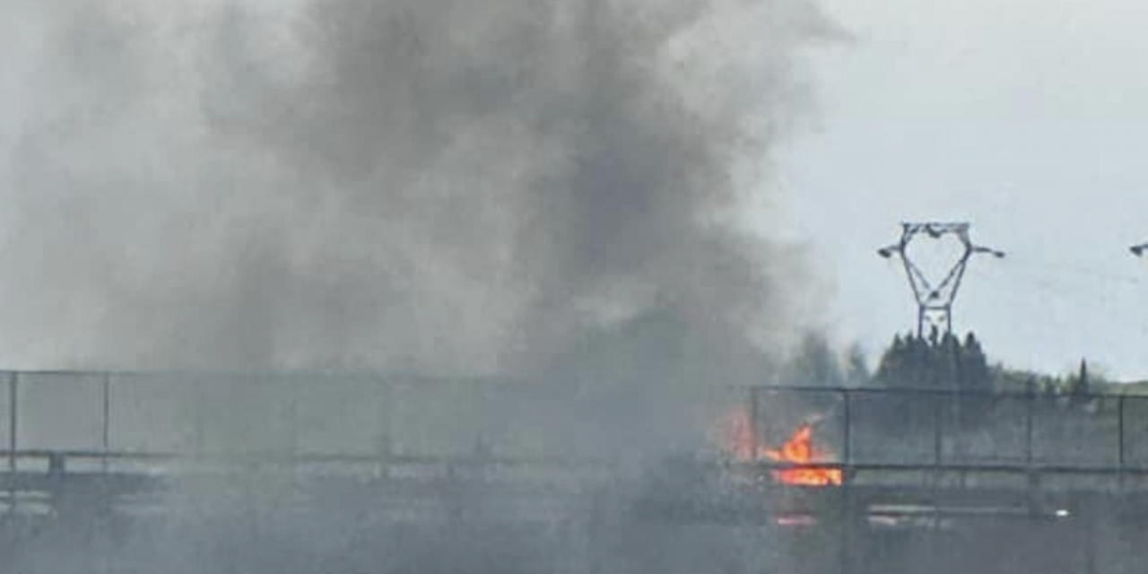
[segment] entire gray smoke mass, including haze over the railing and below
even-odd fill
[[[798,331],[804,270],[745,211],[827,33],[807,0],[2,0],[0,364],[760,375]],[[22,406],[51,393],[33,379]],[[732,402],[408,380],[377,404],[375,380],[248,397],[208,379],[114,385],[113,448],[644,468],[693,453]],[[83,426],[47,410],[23,413],[22,447]],[[762,572],[768,529],[635,518],[652,487],[614,465],[575,465],[565,490],[243,467],[173,479],[155,523],[59,518],[0,553],[45,573]],[[660,501],[707,484],[652,472],[673,479]]]

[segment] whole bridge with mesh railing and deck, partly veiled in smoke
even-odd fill
[[[643,523],[766,528],[794,548],[820,541],[824,564],[806,560],[808,572],[895,571],[891,560],[906,553],[949,560],[994,540],[1016,541],[1009,550],[1027,561],[978,564],[983,572],[1092,574],[1146,558],[1120,533],[1148,517],[1148,397],[572,393],[332,374],[8,372],[0,385],[0,525],[13,543],[36,528],[203,513],[203,492],[246,512],[352,504],[379,525],[560,523],[585,538],[571,525],[598,520],[594,491]],[[738,413],[752,452],[809,425],[819,456],[730,457],[723,425]],[[797,468],[844,480],[777,480]],[[885,556],[891,548],[901,556]]]

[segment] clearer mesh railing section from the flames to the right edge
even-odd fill
[[[759,440],[804,422],[852,467],[1148,472],[1148,397],[926,389],[754,389]]]

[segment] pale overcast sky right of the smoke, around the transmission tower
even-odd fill
[[[817,130],[782,162],[789,233],[836,289],[829,324],[870,350],[914,326],[875,249],[902,219],[967,219],[956,327],[1015,366],[1086,356],[1148,378],[1148,5],[828,0],[855,42],[820,52]]]

